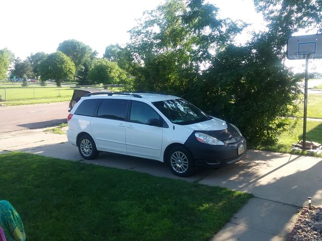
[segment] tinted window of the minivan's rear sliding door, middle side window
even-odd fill
[[[103,99],[97,111],[97,117],[125,121],[127,99]]]

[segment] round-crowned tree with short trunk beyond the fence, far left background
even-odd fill
[[[75,64],[64,53],[57,51],[40,62],[39,73],[42,81],[54,79],[57,86],[60,86],[62,80],[73,79]]]

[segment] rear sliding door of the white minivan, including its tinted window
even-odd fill
[[[92,118],[92,131],[100,151],[126,153],[125,116],[129,100],[103,98],[96,117]]]

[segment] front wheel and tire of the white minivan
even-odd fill
[[[167,156],[170,170],[179,177],[188,177],[195,172],[195,164],[190,152],[183,146],[172,148]]]

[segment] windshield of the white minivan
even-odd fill
[[[174,124],[190,125],[211,119],[192,103],[184,99],[169,99],[152,102]]]

